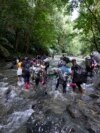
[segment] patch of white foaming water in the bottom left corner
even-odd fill
[[[25,123],[29,119],[29,117],[32,115],[33,110],[28,109],[25,111],[18,111],[14,112],[9,115],[7,123],[2,125],[2,133],[19,133],[19,129],[23,129]]]

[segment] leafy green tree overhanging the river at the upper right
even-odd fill
[[[100,15],[98,0],[74,0],[79,8],[79,17],[75,21],[75,29],[81,31],[80,40],[82,42],[83,51],[91,52],[93,50],[100,50],[99,35],[100,35]],[[75,3],[74,2],[74,3]],[[73,8],[77,7],[73,6]],[[84,43],[83,43],[84,42]],[[84,46],[87,45],[87,46]],[[86,49],[87,47],[87,49]],[[85,48],[85,50],[84,50]]]

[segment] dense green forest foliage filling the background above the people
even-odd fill
[[[0,55],[99,50],[99,0],[0,0]],[[71,20],[78,9],[79,16]]]

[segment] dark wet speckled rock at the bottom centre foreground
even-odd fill
[[[73,124],[67,115],[56,115],[53,112],[43,119],[34,119],[27,123],[27,133],[88,133],[80,125]]]

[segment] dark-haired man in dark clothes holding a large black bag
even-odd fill
[[[81,88],[81,84],[85,83],[87,80],[86,72],[76,63],[76,60],[72,60],[72,83],[73,83],[73,91],[76,90],[76,87],[78,87],[79,92],[83,93],[83,90]]]

